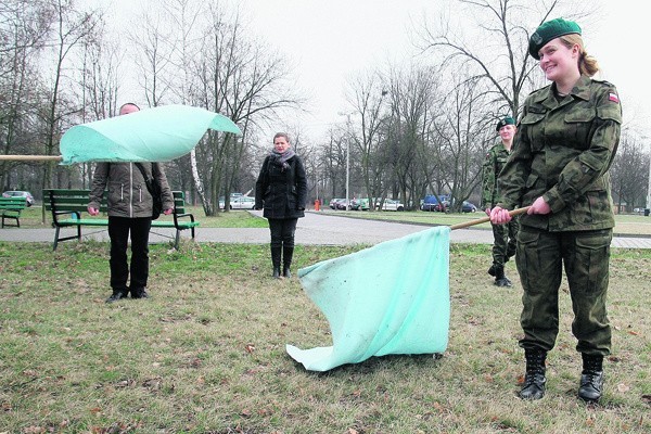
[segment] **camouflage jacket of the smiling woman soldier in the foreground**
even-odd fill
[[[608,169],[620,143],[617,91],[587,76],[563,99],[557,99],[554,89],[552,84],[526,99],[498,180],[499,205],[512,209],[542,196],[551,213],[523,215],[521,225],[552,232],[612,228]]]

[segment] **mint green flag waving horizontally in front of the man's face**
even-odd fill
[[[224,115],[163,105],[72,127],[61,138],[61,164],[169,162],[192,151],[207,129],[242,135]]]

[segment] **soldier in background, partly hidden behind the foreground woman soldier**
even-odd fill
[[[488,216],[499,201],[497,178],[511,153],[516,131],[515,120],[506,116],[497,123],[496,130],[501,140],[490,148],[483,167],[482,207]],[[488,275],[495,277],[495,284],[498,286],[512,285],[505,275],[505,264],[515,255],[518,227],[518,218],[513,218],[507,225],[493,225],[493,265],[488,268]]]

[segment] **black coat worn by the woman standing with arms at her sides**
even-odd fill
[[[255,184],[255,207],[263,208],[265,218],[305,217],[307,201],[307,177],[303,161],[294,155],[286,161],[289,168],[275,163],[267,156]]]

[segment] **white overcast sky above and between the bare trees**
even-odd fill
[[[111,13],[118,14],[141,4],[156,4],[153,0],[97,1],[111,4]],[[330,125],[343,122],[339,113],[349,110],[344,99],[346,80],[360,72],[412,56],[417,50],[409,35],[423,14],[434,20],[446,2],[230,0],[245,13],[251,31],[296,66],[293,78],[298,89],[310,97],[311,110],[311,115],[299,119],[301,129],[312,140],[323,136]],[[593,0],[588,4],[600,9],[593,18],[598,23],[582,27],[588,52],[602,68],[596,78],[608,79],[617,87],[625,123],[635,123],[651,137],[651,87],[641,77],[643,66],[649,63],[648,15],[640,10],[643,3],[643,0]],[[295,124],[295,119],[292,117],[288,124]]]

